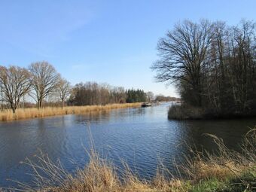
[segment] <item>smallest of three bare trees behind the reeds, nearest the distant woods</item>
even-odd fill
[[[69,81],[66,81],[66,79],[60,78],[56,87],[56,91],[59,95],[59,99],[61,100],[61,108],[63,108],[65,100],[71,93],[71,85]]]

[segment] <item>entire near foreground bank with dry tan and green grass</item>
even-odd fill
[[[247,133],[242,143],[242,152],[228,150],[221,139],[210,136],[218,145],[218,153],[204,155],[194,151],[194,158],[187,157],[183,165],[177,165],[183,177],[166,177],[168,172],[159,167],[151,181],[139,179],[128,166],[122,179],[117,168],[108,160],[90,151],[90,163],[70,175],[61,165],[53,163],[47,155],[38,156],[38,163],[26,164],[35,172],[34,184],[19,184],[20,191],[56,192],[238,192],[256,191],[256,129]],[[93,149],[93,148],[92,148]],[[3,189],[5,190],[5,189]]]

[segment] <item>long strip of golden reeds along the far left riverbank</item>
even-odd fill
[[[20,120],[36,117],[49,117],[62,114],[84,114],[93,111],[104,111],[115,108],[133,108],[139,107],[141,103],[124,103],[110,105],[87,105],[87,106],[67,106],[64,108],[47,107],[47,108],[18,108],[14,114],[11,110],[0,111],[0,121]]]

